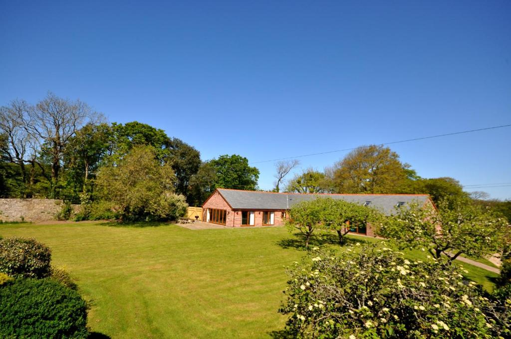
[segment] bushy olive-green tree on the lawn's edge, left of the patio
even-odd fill
[[[120,221],[166,220],[182,216],[184,197],[174,194],[176,176],[161,165],[151,146],[134,146],[118,164],[103,166],[96,184],[99,195],[117,205]]]

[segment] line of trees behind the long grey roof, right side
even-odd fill
[[[485,192],[466,192],[458,180],[450,177],[422,178],[388,147],[362,146],[324,171],[307,168],[286,181],[290,169],[297,165],[296,160],[275,165],[274,191],[284,186],[284,191],[296,193],[428,194],[435,204],[448,198],[472,199],[511,222],[511,200],[488,200]]]

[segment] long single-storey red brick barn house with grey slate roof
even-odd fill
[[[317,197],[342,199],[386,214],[411,202],[433,206],[428,195],[273,193],[218,188],[202,205],[202,220],[231,227],[278,226],[284,224],[286,211],[294,204]],[[352,232],[374,235],[370,225],[354,228]]]

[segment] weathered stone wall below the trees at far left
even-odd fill
[[[56,199],[0,199],[0,220],[50,221],[61,208],[62,200]]]

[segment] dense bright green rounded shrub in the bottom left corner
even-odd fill
[[[86,338],[80,295],[52,279],[16,279],[0,287],[0,336]]]

